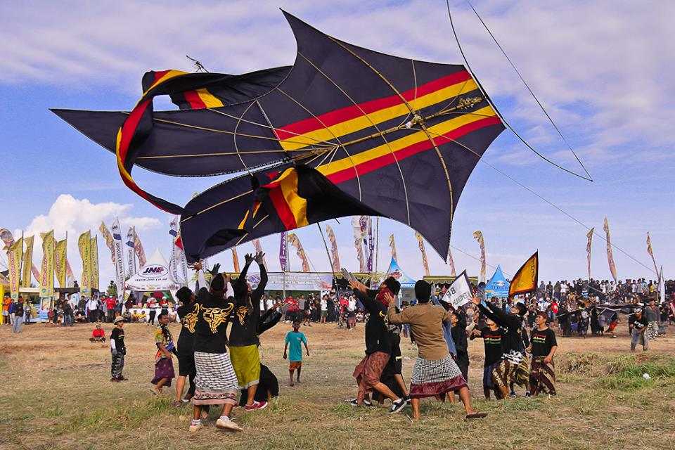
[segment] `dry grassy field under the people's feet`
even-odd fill
[[[224,434],[211,423],[189,435],[191,409],[174,409],[169,396],[150,393],[149,326],[125,326],[125,383],[108,381],[110,352],[89,342],[90,326],[32,325],[20,335],[1,326],[0,449],[675,449],[675,338],[634,355],[625,334],[558,338],[558,397],[507,401],[481,398],[483,350],[475,340],[470,387],[488,418],[468,422],[459,404],[428,400],[423,420],[412,423],[409,409],[388,416],[384,408],[343,402],[356,392],[351,375],[363,354],[361,324],[350,332],[302,328],[311,356],[296,387],[287,386],[281,358],[289,329],[281,323],[262,336],[262,358],[282,383],[281,396],[263,411],[236,409],[243,433]],[[177,336],[179,326],[172,330]],[[409,342],[402,347],[409,379],[415,350]]]

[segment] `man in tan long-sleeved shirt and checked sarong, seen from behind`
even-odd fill
[[[429,302],[431,285],[419,280],[415,283],[417,304],[396,312],[394,296],[387,294],[389,310],[387,319],[390,323],[409,324],[418,347],[418,357],[413,367],[413,378],[409,395],[413,407],[413,419],[420,418],[420,399],[424,397],[441,397],[457,391],[464,404],[466,418],[481,418],[487,413],[479,413],[471,406],[471,395],[457,364],[448,352],[443,338],[443,322],[450,321],[450,313],[442,307]]]

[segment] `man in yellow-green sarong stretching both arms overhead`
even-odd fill
[[[230,330],[230,359],[237,375],[239,388],[248,390],[248,401],[244,409],[255,411],[267,406],[266,401],[256,401],[255,392],[260,383],[260,352],[257,326],[260,319],[260,297],[267,284],[267,271],[263,264],[264,253],[258,252],[255,257],[245,256],[246,265],[239,278],[232,285],[235,306],[232,328]],[[255,260],[260,269],[260,282],[255,290],[246,281],[246,274]]]

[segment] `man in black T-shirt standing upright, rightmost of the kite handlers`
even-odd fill
[[[532,352],[532,368],[529,371],[529,392],[532,395],[546,392],[555,395],[555,366],[553,355],[558,349],[555,333],[548,327],[545,311],[536,313],[536,328],[530,336],[529,351]]]

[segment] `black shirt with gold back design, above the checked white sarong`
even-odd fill
[[[200,292],[195,304],[195,352],[227,353],[227,322],[234,303],[223,297]]]

